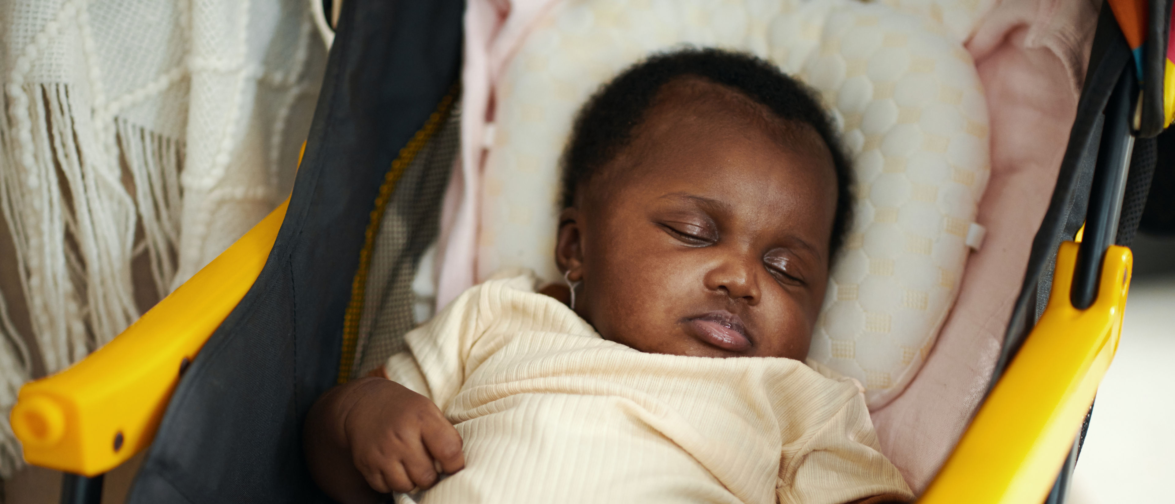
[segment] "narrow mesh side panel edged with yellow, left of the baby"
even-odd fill
[[[404,170],[384,209],[372,250],[360,317],[356,365],[364,376],[404,349],[412,320],[412,278],[424,250],[436,241],[441,200],[457,156],[461,132],[457,108]]]

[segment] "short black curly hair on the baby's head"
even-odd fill
[[[852,220],[853,170],[848,156],[814,93],[774,65],[746,53],[691,47],[654,54],[602,86],[579,109],[563,152],[563,208],[573,206],[576,189],[629,147],[632,132],[662,87],[684,76],[732,88],[786,122],[815,129],[837,172],[837,209],[828,243],[830,258],[835,256]]]

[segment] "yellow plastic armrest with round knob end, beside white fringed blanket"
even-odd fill
[[[147,448],[181,370],[261,274],[288,204],[89,357],[22,387],[12,429],[25,461],[96,476]]]

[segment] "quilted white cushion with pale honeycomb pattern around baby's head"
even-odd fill
[[[486,135],[477,271],[553,262],[558,157],[577,109],[651,52],[751,52],[821,94],[858,176],[810,364],[859,379],[871,408],[916,374],[958,291],[987,183],[987,107],[941,23],[851,0],[571,0],[528,36]]]

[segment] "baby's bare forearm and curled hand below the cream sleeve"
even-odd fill
[[[323,394],[307,416],[302,445],[315,483],[344,504],[427,489],[438,471],[465,466],[461,435],[436,404],[383,378]]]

